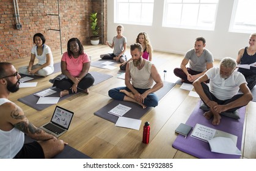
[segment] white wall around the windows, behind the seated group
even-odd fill
[[[135,42],[137,34],[142,31],[147,32],[154,50],[177,54],[185,54],[188,49],[194,48],[194,40],[203,36],[207,40],[206,48],[213,53],[214,59],[226,56],[236,59],[238,50],[248,45],[250,34],[229,32],[233,0],[219,0],[214,31],[162,27],[163,4],[164,0],[155,0],[152,26],[122,24],[125,27],[123,35],[127,38],[128,46]],[[108,1],[109,42],[117,34],[117,24],[120,23],[114,23],[114,1]]]

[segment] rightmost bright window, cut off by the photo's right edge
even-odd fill
[[[235,0],[229,31],[243,33],[256,32],[255,7],[255,0]]]

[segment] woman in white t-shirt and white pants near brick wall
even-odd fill
[[[41,33],[37,33],[33,37],[35,46],[31,49],[31,59],[29,66],[20,67],[19,73],[23,75],[38,75],[47,76],[53,73],[53,54],[51,48],[45,45],[45,37]],[[38,64],[34,65],[35,58],[38,59]]]

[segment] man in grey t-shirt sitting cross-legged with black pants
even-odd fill
[[[205,49],[205,38],[197,37],[193,49],[190,49],[181,62],[180,68],[174,69],[174,74],[181,82],[192,83],[213,67],[213,55]],[[189,68],[186,65],[189,63]]]

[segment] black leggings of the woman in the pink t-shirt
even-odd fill
[[[84,78],[81,79],[81,81],[79,81],[78,83],[78,92],[82,92],[83,90],[88,89],[90,86],[92,86],[94,82],[94,78],[92,75],[90,75],[90,73],[87,73],[86,76],[84,76]],[[62,80],[56,80],[53,84],[53,87],[56,86],[59,89],[62,90],[68,90],[68,93],[75,93],[72,92],[72,90],[70,89],[73,85],[73,81],[71,81],[71,79],[62,79]]]

